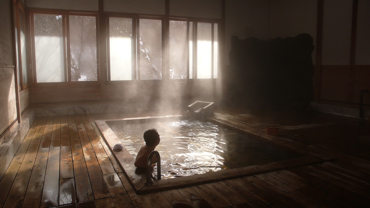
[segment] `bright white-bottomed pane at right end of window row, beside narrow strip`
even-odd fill
[[[197,78],[211,78],[212,23],[198,23]]]

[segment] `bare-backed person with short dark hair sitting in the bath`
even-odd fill
[[[161,139],[159,138],[157,130],[155,128],[152,128],[144,132],[144,140],[145,146],[140,148],[134,165],[135,167],[146,169],[149,154],[154,151],[155,147],[157,147]],[[154,155],[152,158],[152,164],[156,162],[157,157]]]

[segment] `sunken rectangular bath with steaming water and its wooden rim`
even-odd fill
[[[189,116],[162,116],[96,120],[108,147],[122,144],[112,153],[137,193],[185,187],[204,182],[242,177],[320,162],[312,156],[248,136]],[[161,142],[161,180],[145,184],[145,171],[134,166],[142,135],[156,128]],[[230,128],[236,128],[231,127]],[[240,130],[241,131],[241,130]],[[157,175],[157,170],[152,173]]]

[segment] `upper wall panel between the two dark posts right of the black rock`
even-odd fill
[[[352,0],[324,0],[322,65],[349,65]]]

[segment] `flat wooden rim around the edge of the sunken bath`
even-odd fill
[[[207,172],[203,174],[196,174],[196,175],[190,175],[190,176],[184,176],[184,177],[178,177],[178,178],[168,178],[165,180],[153,181],[152,185],[145,185],[144,182],[146,181],[146,174],[138,175],[135,173],[135,170],[136,170],[136,167],[134,166],[135,159],[128,152],[128,150],[125,147],[122,151],[112,150],[115,144],[122,144],[122,143],[106,122],[107,121],[126,121],[126,120],[147,120],[147,119],[150,119],[150,120],[161,119],[162,120],[162,119],[173,119],[173,118],[188,119],[190,117],[188,115],[167,115],[167,116],[95,120],[95,124],[97,125],[98,130],[100,131],[102,135],[102,138],[104,139],[108,147],[110,147],[112,154],[114,155],[114,157],[120,164],[122,170],[125,173],[125,176],[127,177],[130,184],[132,185],[132,188],[138,194],[151,192],[151,191],[161,191],[164,189],[187,187],[191,185],[203,184],[203,183],[214,182],[214,181],[219,181],[219,180],[226,180],[226,179],[231,179],[231,178],[245,177],[249,175],[260,174],[263,172],[276,171],[276,170],[282,170],[285,168],[300,167],[303,165],[310,165],[310,164],[316,164],[319,162],[323,162],[322,159],[319,159],[317,157],[307,156],[308,154],[306,152],[293,150],[295,152],[298,152],[306,156],[289,159],[289,160],[272,162],[272,163],[263,164],[263,165],[252,165],[248,167],[233,168],[233,169],[228,169],[228,170],[219,170],[215,172]],[[216,121],[212,119],[212,117],[208,118],[207,121],[221,125],[223,127],[226,127],[232,130],[241,131],[256,139],[261,139],[260,135],[253,134],[251,132],[246,132],[238,127],[233,127],[229,124]],[[282,145],[279,145],[279,146],[286,148]],[[286,149],[290,149],[290,148],[286,148]]]

